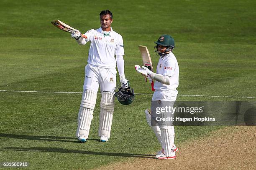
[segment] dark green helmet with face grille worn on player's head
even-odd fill
[[[158,45],[162,45],[162,46],[165,46],[167,47],[166,50],[164,51],[164,53],[162,54],[166,54],[167,52],[170,52],[174,49],[174,46],[175,46],[175,42],[174,42],[174,39],[172,36],[170,35],[161,35],[157,42],[155,42],[157,45],[155,46],[155,52],[156,53],[159,53],[158,52]],[[160,54],[159,54],[160,55]]]

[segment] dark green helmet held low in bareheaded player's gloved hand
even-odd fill
[[[120,87],[115,96],[122,105],[130,105],[134,100],[133,88],[128,85],[128,88]]]

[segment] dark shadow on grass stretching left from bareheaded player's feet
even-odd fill
[[[26,139],[26,140],[45,140],[45,141],[55,141],[55,142],[77,143],[77,138],[59,137],[59,136],[32,136],[32,135],[16,135],[16,134],[0,133],[0,137]]]

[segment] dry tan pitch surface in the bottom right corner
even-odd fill
[[[255,141],[255,126],[230,126],[210,133],[200,140],[192,140],[179,146],[175,160],[137,158],[110,164],[104,168],[108,170],[255,169]]]

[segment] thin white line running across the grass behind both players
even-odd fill
[[[44,91],[23,91],[23,90],[0,90],[0,92],[41,92],[41,93],[79,93],[82,92],[44,92]],[[100,94],[100,93],[98,93]],[[135,95],[153,95],[153,93],[135,93]],[[214,95],[178,95],[178,96],[192,96],[192,97],[229,97],[229,98],[256,98],[256,97],[239,97],[239,96],[214,96]]]

